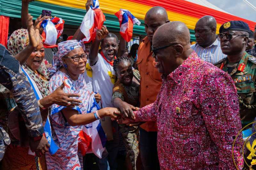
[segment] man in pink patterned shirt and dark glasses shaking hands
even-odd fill
[[[152,51],[163,85],[154,103],[134,112],[135,121],[157,121],[161,170],[240,170],[242,139],[236,135],[241,121],[234,82],[201,60],[189,40],[183,23],[157,29]]]

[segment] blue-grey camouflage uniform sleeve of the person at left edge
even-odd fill
[[[6,91],[11,92],[26,124],[28,135],[31,137],[42,136],[44,127],[34,91],[29,84],[29,80],[21,71],[20,63],[9,54],[9,51],[3,45],[0,45],[0,84],[6,88]],[[6,105],[3,103],[6,97],[3,86],[0,88],[2,91],[0,97],[1,111],[6,110]],[[3,142],[9,144],[9,136],[6,133],[8,129],[7,120],[8,114],[1,112],[0,158],[3,157],[2,153],[4,153],[4,150],[2,150]]]

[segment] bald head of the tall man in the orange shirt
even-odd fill
[[[147,33],[149,41],[152,43],[154,32],[158,27],[168,23],[168,15],[165,8],[155,6],[148,10],[145,15],[145,32]]]

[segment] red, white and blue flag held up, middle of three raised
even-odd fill
[[[80,27],[85,36],[84,43],[94,40],[96,29],[101,29],[105,20],[105,15],[99,8],[99,0],[93,0],[93,6],[86,12]]]

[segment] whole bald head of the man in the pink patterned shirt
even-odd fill
[[[189,28],[181,22],[160,26],[153,36],[153,52],[156,67],[163,75],[169,75],[192,53]]]

